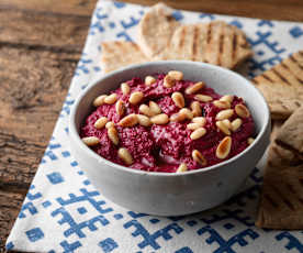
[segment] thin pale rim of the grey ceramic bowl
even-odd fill
[[[97,86],[99,82],[101,82],[103,79],[110,78],[112,76],[115,76],[120,73],[126,72],[126,70],[132,70],[132,69],[137,69],[137,68],[144,68],[144,67],[148,67],[150,65],[164,65],[164,64],[180,64],[180,66],[182,64],[187,64],[187,65],[198,65],[199,67],[205,67],[209,69],[213,69],[216,72],[223,72],[226,73],[227,75],[233,75],[236,76],[238,79],[242,79],[242,81],[247,85],[250,86],[255,92],[259,96],[260,101],[262,102],[262,107],[265,109],[263,113],[265,113],[265,124],[261,125],[261,129],[257,135],[257,138],[255,139],[255,141],[252,142],[252,144],[250,144],[248,147],[246,147],[243,152],[240,152],[239,154],[231,157],[229,160],[223,161],[218,164],[214,164],[212,166],[209,167],[204,167],[204,168],[198,168],[198,169],[192,169],[192,170],[188,170],[188,172],[183,172],[183,173],[162,173],[162,172],[146,172],[146,170],[139,170],[139,169],[135,169],[135,168],[131,168],[131,167],[126,167],[116,163],[113,163],[104,157],[102,157],[101,155],[97,154],[96,152],[93,152],[91,148],[89,148],[81,140],[77,128],[76,128],[76,114],[79,108],[79,103],[80,101],[87,96],[87,94],[94,88],[94,86]],[[192,62],[192,61],[157,61],[157,62],[147,62],[147,63],[143,63],[143,64],[133,64],[133,65],[128,65],[126,67],[123,68],[119,68],[117,70],[113,70],[109,74],[102,75],[101,78],[98,78],[96,81],[93,81],[85,91],[82,91],[78,98],[76,99],[76,102],[72,105],[71,108],[71,112],[70,112],[70,117],[69,117],[69,139],[74,139],[74,141],[76,142],[76,144],[78,145],[78,147],[82,151],[86,152],[88,156],[90,156],[90,158],[93,158],[97,161],[97,163],[99,164],[106,164],[108,166],[114,167],[119,170],[123,170],[125,173],[131,173],[131,174],[139,174],[139,175],[148,175],[148,176],[162,176],[162,177],[176,177],[176,176],[184,176],[184,175],[192,175],[192,174],[197,174],[197,173],[206,173],[209,170],[213,170],[215,168],[218,168],[221,166],[225,166],[227,164],[231,164],[233,162],[235,162],[236,160],[238,160],[240,156],[244,156],[245,154],[247,154],[248,152],[250,152],[256,145],[257,143],[260,142],[260,140],[262,139],[262,136],[265,135],[268,127],[270,124],[270,112],[269,112],[269,108],[268,105],[266,102],[265,97],[262,96],[262,94],[251,84],[250,80],[248,80],[247,78],[245,78],[244,76],[239,75],[238,73],[235,73],[231,69],[227,68],[223,68],[216,65],[212,65],[212,64],[207,64],[207,63],[201,63],[201,62]]]

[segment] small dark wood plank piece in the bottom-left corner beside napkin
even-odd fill
[[[3,191],[0,187],[0,253],[5,252],[4,243],[19,213],[24,195]]]

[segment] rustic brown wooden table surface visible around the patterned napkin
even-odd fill
[[[303,21],[301,0],[166,2],[195,11]],[[53,132],[94,4],[0,0],[0,252]]]

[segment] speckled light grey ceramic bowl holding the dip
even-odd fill
[[[147,173],[124,167],[99,156],[82,143],[79,129],[92,111],[91,105],[97,96],[109,94],[133,77],[144,78],[171,69],[182,72],[184,79],[205,81],[221,95],[243,97],[255,119],[255,142],[228,161],[182,174]],[[153,62],[119,69],[90,86],[72,108],[69,134],[74,157],[108,199],[134,211],[181,216],[217,206],[239,189],[269,143],[270,114],[260,92],[234,72],[188,61]]]

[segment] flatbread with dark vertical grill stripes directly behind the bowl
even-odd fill
[[[179,26],[156,59],[191,59],[235,68],[251,55],[239,29],[213,21]]]

